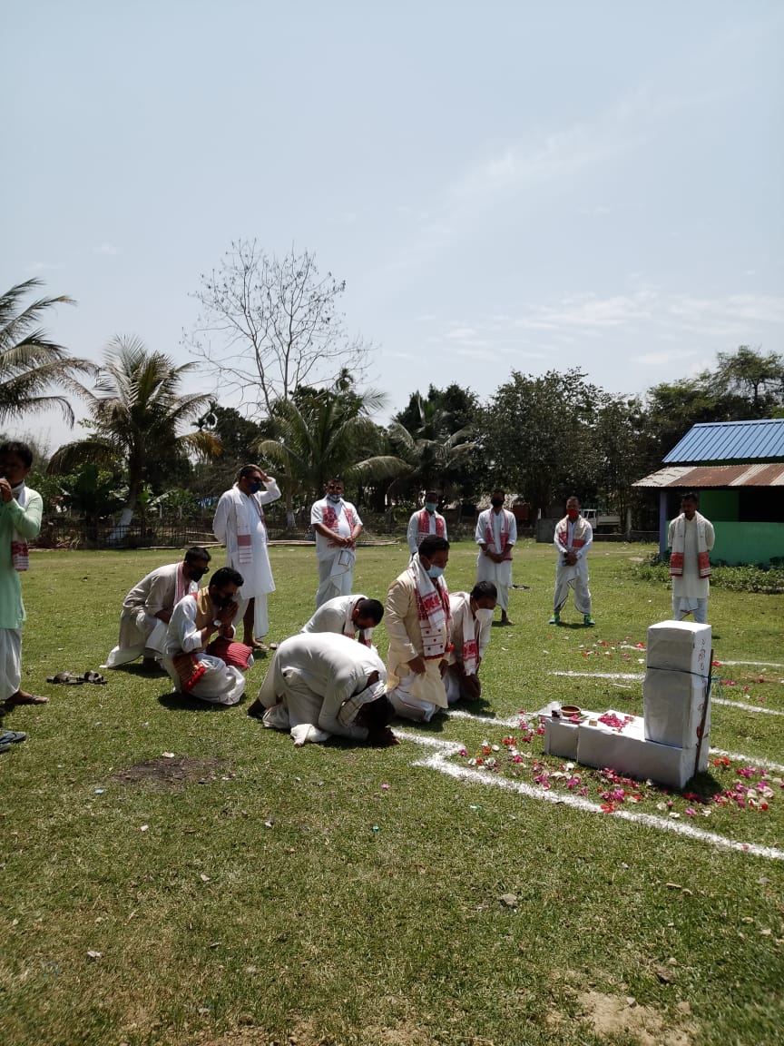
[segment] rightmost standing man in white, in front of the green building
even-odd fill
[[[697,511],[697,496],[681,499],[681,515],[670,523],[668,544],[672,578],[672,616],[683,621],[694,615],[698,624],[708,623],[710,552],[715,542],[713,524]]]

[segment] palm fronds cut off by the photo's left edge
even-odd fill
[[[28,279],[0,295],[0,422],[57,407],[73,425],[70,403],[49,390],[60,386],[77,391],[76,376],[94,373],[96,367],[89,360],[69,356],[62,345],[49,341],[40,326],[49,309],[72,305],[71,298],[61,295],[23,304],[25,295],[41,286],[40,279]]]

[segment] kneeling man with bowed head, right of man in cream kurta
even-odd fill
[[[477,582],[470,593],[449,593],[452,651],[443,683],[451,705],[461,698],[476,701],[481,697],[479,666],[490,640],[497,596],[492,582]]]

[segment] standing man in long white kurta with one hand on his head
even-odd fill
[[[267,596],[275,591],[263,505],[279,497],[278,484],[272,476],[257,464],[243,465],[234,486],[221,495],[212,521],[215,537],[226,545],[227,566],[238,570],[245,578],[239,592],[244,642],[260,653],[267,647],[258,639],[270,631]]]

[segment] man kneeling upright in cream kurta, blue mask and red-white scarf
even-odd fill
[[[451,610],[441,575],[448,559],[445,538],[424,538],[387,593],[387,693],[398,715],[417,722],[446,708]]]

